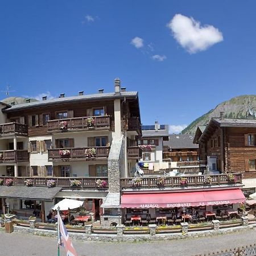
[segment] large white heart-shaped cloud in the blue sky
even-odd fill
[[[176,14],[167,23],[176,41],[189,53],[208,49],[223,40],[222,33],[211,25],[201,26],[199,21],[187,16]]]

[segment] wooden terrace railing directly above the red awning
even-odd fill
[[[189,175],[189,176],[175,176],[175,177],[165,177],[164,187],[195,187],[202,185],[223,185],[223,184],[241,184],[242,174],[217,174],[217,175]],[[208,179],[210,177],[210,179]],[[181,184],[181,179],[184,184]],[[121,178],[120,184],[122,189],[134,188],[133,178]],[[158,181],[157,177],[141,177],[139,186],[136,188],[158,188],[156,184]]]

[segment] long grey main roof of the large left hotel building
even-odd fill
[[[63,98],[53,98],[52,100],[45,101],[35,101],[30,103],[18,104],[14,106],[10,106],[10,108],[6,109],[5,112],[12,112],[16,110],[23,110],[28,108],[35,107],[43,107],[48,105],[56,105],[56,104],[65,104],[69,102],[79,102],[79,101],[96,101],[96,100],[113,100],[117,98],[137,98],[138,92],[121,92],[116,95],[113,93],[96,93],[96,94],[88,94],[81,96],[72,96],[72,97],[63,97]]]

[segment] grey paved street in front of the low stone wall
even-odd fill
[[[246,230],[213,237],[161,242],[80,242],[74,241],[80,256],[105,255],[195,255],[216,252],[256,243],[256,230]],[[61,256],[65,255],[61,247]],[[57,241],[51,237],[39,237],[22,233],[6,234],[0,231],[0,255],[57,255]]]

